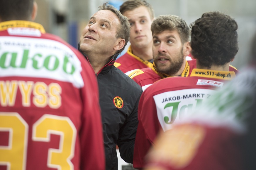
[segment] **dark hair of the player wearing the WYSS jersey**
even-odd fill
[[[1,0],[0,20],[31,20],[34,0]]]

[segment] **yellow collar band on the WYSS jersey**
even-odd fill
[[[45,29],[41,24],[31,22],[31,21],[23,21],[23,20],[11,20],[0,22],[0,31],[7,30],[8,28],[13,27],[27,27],[27,28],[35,28],[39,30],[41,33],[45,33]]]

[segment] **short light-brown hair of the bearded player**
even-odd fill
[[[152,34],[159,34],[165,30],[176,30],[179,33],[181,42],[189,41],[189,27],[182,18],[176,15],[159,15],[151,24]]]

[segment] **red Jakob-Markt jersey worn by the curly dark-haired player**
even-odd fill
[[[174,122],[179,122],[210,98],[213,89],[221,88],[225,80],[234,77],[235,72],[193,69],[190,77],[161,79],[146,89],[138,108],[134,168],[143,168],[145,155],[159,132],[172,129]]]

